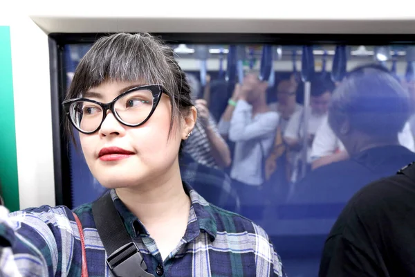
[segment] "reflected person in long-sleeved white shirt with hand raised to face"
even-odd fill
[[[264,161],[273,145],[279,115],[266,103],[267,82],[248,73],[219,121],[219,133],[235,143],[230,177],[241,199],[241,214],[260,220],[264,210]]]

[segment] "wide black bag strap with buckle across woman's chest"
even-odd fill
[[[107,264],[116,277],[154,277],[149,274],[147,265],[137,245],[122,223],[121,217],[106,193],[92,204],[93,220],[107,252]]]

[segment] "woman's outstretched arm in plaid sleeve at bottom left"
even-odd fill
[[[71,215],[48,206],[8,214],[0,206],[0,276],[80,276],[81,267],[70,266],[81,251]]]

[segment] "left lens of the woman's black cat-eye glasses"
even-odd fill
[[[73,124],[83,132],[93,132],[102,122],[102,107],[89,101],[73,102],[70,109]]]

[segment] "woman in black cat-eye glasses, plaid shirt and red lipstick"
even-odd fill
[[[107,220],[97,231],[98,218],[110,215],[97,213],[98,202],[75,210],[82,232],[66,207],[2,210],[1,276],[81,276],[85,265],[90,276],[283,276],[263,229],[181,181],[178,156],[196,109],[171,48],[148,34],[103,37],[77,67],[66,99],[66,126],[80,131],[89,169],[110,190],[100,208],[116,210],[124,228],[105,233],[116,224]],[[123,232],[138,251],[107,259],[124,253],[108,251]],[[140,263],[120,274],[131,257]]]

